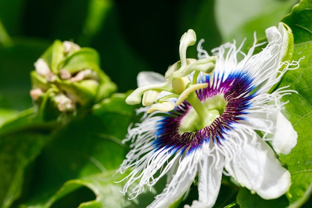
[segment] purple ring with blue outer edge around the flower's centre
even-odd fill
[[[228,130],[233,129],[232,124],[244,119],[240,115],[246,114],[246,109],[251,105],[251,99],[256,96],[256,92],[251,94],[251,91],[255,89],[252,85],[253,79],[246,71],[232,73],[225,80],[223,80],[223,75],[215,74],[214,76],[217,76],[214,80],[220,82],[218,85],[210,83],[210,76],[207,75],[206,81],[202,82],[207,82],[208,87],[196,93],[202,102],[213,99],[214,96],[223,95],[226,102],[223,113],[210,126],[181,134],[179,133],[181,120],[192,108],[188,102],[184,101],[159,121],[157,138],[154,142],[157,149],[165,147],[172,151],[182,149],[181,152],[184,152],[189,147],[188,152],[191,152],[210,140],[220,144]]]

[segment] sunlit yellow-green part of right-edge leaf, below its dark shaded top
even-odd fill
[[[305,55],[301,60],[300,68],[288,72],[281,83],[281,86],[290,85],[291,88],[298,91],[290,96],[285,96],[284,101],[289,100],[285,106],[285,114],[294,125],[298,132],[298,144],[293,152],[286,156],[281,156],[281,161],[288,165],[292,174],[293,185],[289,193],[289,200],[294,203],[298,200],[306,201],[311,195],[312,182],[312,134],[309,131],[312,128],[312,73],[311,73],[311,50],[312,41],[305,44],[295,44],[294,59]],[[309,193],[306,193],[309,191]]]

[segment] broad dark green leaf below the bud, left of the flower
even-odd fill
[[[126,96],[127,94],[114,94],[94,106],[92,114],[76,117],[53,131],[50,142],[36,162],[37,175],[32,179],[35,183],[29,200],[21,204],[50,207],[57,199],[76,190],[76,187],[67,187],[69,184],[87,186],[105,200],[110,198],[103,197],[101,193],[107,194],[111,189],[114,190],[111,190],[111,195],[119,196],[122,187],[120,184],[115,185],[113,180],[122,178],[117,180],[111,176],[125,159],[128,146],[122,144],[121,140],[125,138],[129,124],[134,121],[135,108],[125,103]],[[118,177],[121,177],[120,174]],[[62,186],[65,188],[61,188]],[[99,193],[97,189],[103,190]],[[29,190],[24,190],[24,193],[29,193]],[[124,196],[121,195],[121,198]],[[83,202],[84,198],[81,200]],[[147,200],[151,202],[153,197]],[[144,202],[146,200],[142,203]],[[91,203],[90,207],[101,207],[103,202],[97,203]]]

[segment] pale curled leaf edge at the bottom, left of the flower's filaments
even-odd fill
[[[82,187],[87,187],[93,191],[95,199],[81,203],[79,208],[145,208],[154,200],[155,189],[153,192],[146,189],[137,199],[129,200],[127,195],[121,193],[125,182],[120,181],[124,176],[114,174],[115,171],[111,170],[81,179],[69,180],[46,203],[21,206],[21,208],[49,208],[58,200],[58,206],[62,206],[64,203],[62,198]]]

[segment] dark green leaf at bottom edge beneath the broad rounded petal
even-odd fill
[[[251,194],[246,188],[241,188],[236,199],[240,208],[285,208],[289,202],[285,195],[274,200],[264,200],[256,194]]]

